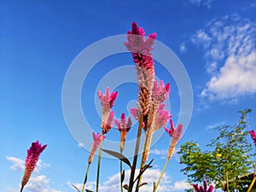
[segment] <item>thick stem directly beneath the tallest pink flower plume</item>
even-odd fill
[[[137,130],[137,141],[136,141],[136,147],[135,147],[135,151],[134,151],[133,163],[132,163],[132,167],[131,167],[131,176],[130,176],[130,181],[129,181],[128,192],[132,191],[133,184],[134,184],[133,180],[134,180],[135,170],[136,170],[136,166],[137,166],[137,154],[138,154],[139,145],[140,145],[140,141],[141,141],[142,130],[143,130],[143,115],[141,116],[141,119],[140,119],[139,125],[138,125],[138,130]]]

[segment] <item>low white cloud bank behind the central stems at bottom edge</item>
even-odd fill
[[[125,171],[125,183],[129,183],[129,175],[130,175],[130,170]],[[136,171],[136,175],[138,174],[138,170]],[[140,189],[141,192],[148,192],[153,190],[153,183],[157,182],[158,178],[160,177],[160,170],[159,169],[149,169],[143,174],[143,181],[142,183],[148,183],[147,185],[143,185]],[[100,185],[100,191],[101,192],[108,192],[108,191],[119,191],[120,186],[119,186],[119,180],[120,176],[119,173],[114,174],[111,177],[108,177],[108,180]],[[72,187],[71,182],[67,182],[69,186]],[[81,183],[75,183],[75,186],[77,186],[79,189],[82,188]],[[95,190],[96,189],[96,183],[95,182],[89,182],[86,183],[86,189],[90,190]],[[170,177],[164,174],[162,177],[160,186],[158,188],[159,192],[171,192],[171,191],[183,191],[184,189],[189,189],[189,184],[184,181],[177,181],[175,183],[172,183]],[[76,189],[74,189],[76,190]]]

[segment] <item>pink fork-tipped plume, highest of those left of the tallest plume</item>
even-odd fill
[[[106,94],[103,94],[100,90],[98,90],[97,94],[102,104],[102,132],[103,134],[106,134],[112,127],[114,113],[111,111],[111,108],[113,107],[114,101],[118,96],[118,92],[114,91],[110,93],[109,87],[107,87]]]

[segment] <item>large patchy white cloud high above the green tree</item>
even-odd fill
[[[211,79],[201,91],[211,101],[237,102],[256,93],[256,23],[239,15],[212,20],[191,39],[206,51]]]

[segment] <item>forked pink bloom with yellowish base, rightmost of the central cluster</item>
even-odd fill
[[[172,154],[174,152],[174,148],[177,145],[177,141],[180,139],[182,131],[183,131],[183,125],[179,124],[177,125],[177,129],[174,128],[172,119],[170,120],[171,128],[170,130],[165,127],[166,132],[172,137],[171,144],[169,147],[169,151],[167,154],[167,158],[170,159],[172,157]]]

